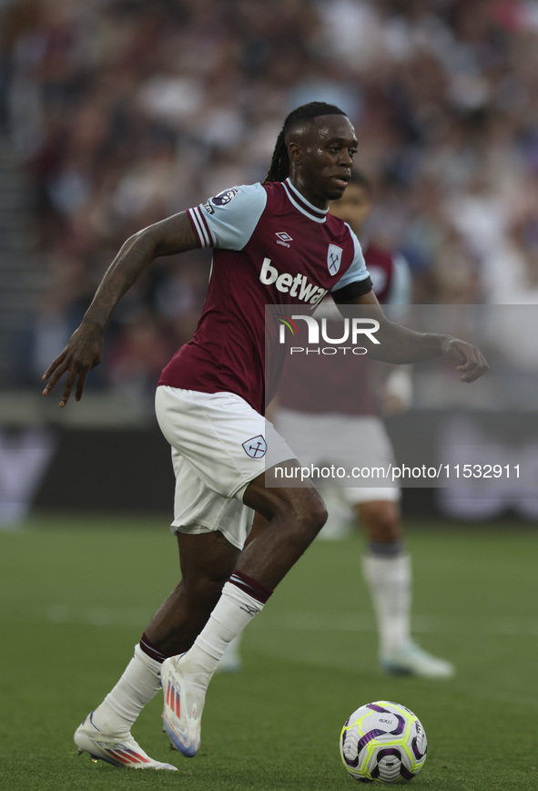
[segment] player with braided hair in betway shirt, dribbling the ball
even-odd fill
[[[263,184],[224,190],[125,242],[82,324],[44,375],[44,395],[66,374],[60,406],[73,388],[79,400],[86,376],[101,361],[117,303],[142,272],[160,255],[214,248],[196,334],[165,367],[156,395],[176,473],[172,529],[181,581],[147,625],[114,689],[77,728],[79,752],[115,765],[176,769],[150,758],[131,734],[162,684],[167,734],[181,753],[196,755],[208,683],[228,643],[323,527],[327,513],[313,485],[266,485],[266,467],[292,473],[299,467],[263,417],[266,380],[277,379],[266,370],[265,348],[278,346],[279,337],[277,322],[266,334],[266,304],[299,301],[313,308],[331,292],[337,303],[363,305],[379,323],[376,359],[401,364],[443,355],[462,382],[487,370],[472,344],[413,333],[383,315],[359,241],[329,214],[329,201],[348,185],[356,149],[355,130],[339,108],[312,102],[294,110]],[[339,266],[330,258],[335,248]],[[254,510],[267,523],[245,546]]]

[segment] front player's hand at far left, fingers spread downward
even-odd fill
[[[67,373],[64,393],[60,406],[66,406],[71,391],[76,384],[75,400],[80,401],[86,384],[86,376],[99,365],[103,355],[103,334],[93,324],[81,324],[69,339],[66,348],[49,365],[43,379],[50,379],[43,395],[48,395],[54,389],[59,379]]]

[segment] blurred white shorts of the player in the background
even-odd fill
[[[353,485],[359,478],[320,478],[312,482],[324,486],[340,487],[341,497],[350,505],[401,498],[400,488],[392,483],[371,486],[374,468],[388,469],[394,463],[391,440],[379,417],[363,415],[312,415],[279,408],[275,424],[282,437],[293,449],[303,467],[344,467],[349,471],[360,468],[364,477],[360,486]],[[366,477],[371,473],[370,477]]]

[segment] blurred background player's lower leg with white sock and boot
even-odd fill
[[[358,503],[355,511],[370,539],[362,568],[377,619],[381,667],[387,673],[450,678],[452,663],[411,639],[411,559],[402,541],[399,504],[371,500]]]

